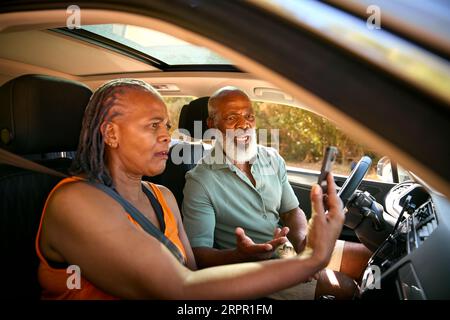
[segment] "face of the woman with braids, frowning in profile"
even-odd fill
[[[115,114],[104,132],[115,147],[108,148],[113,163],[126,174],[154,176],[162,173],[169,156],[169,116],[164,102],[148,91],[125,89],[115,97]]]

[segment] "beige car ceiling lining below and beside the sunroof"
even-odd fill
[[[0,85],[26,73],[44,73],[78,80],[92,90],[118,77],[139,78],[168,96],[208,96],[239,86],[255,100],[300,105],[266,81],[245,72],[163,72],[125,54],[51,30],[0,33]]]

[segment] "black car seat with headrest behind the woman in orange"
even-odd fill
[[[0,147],[66,173],[76,150],[85,85],[44,75],[24,75],[0,87]],[[50,190],[60,177],[0,164],[2,298],[40,296],[35,237]]]

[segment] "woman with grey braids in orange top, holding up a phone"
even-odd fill
[[[344,221],[331,175],[328,214],[320,187],[311,191],[307,254],[196,271],[173,194],[142,181],[164,170],[169,128],[167,108],[147,83],[118,79],[95,91],[73,177],[52,190],[42,213],[36,238],[42,298],[257,298],[307,281],[327,265]],[[68,285],[69,265],[79,267],[78,286]]]

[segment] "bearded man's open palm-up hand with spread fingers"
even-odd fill
[[[261,244],[256,244],[253,240],[245,234],[244,229],[236,228],[236,251],[243,261],[257,261],[269,259],[275,249],[287,242],[286,235],[289,228],[282,229],[275,228],[273,239]]]

